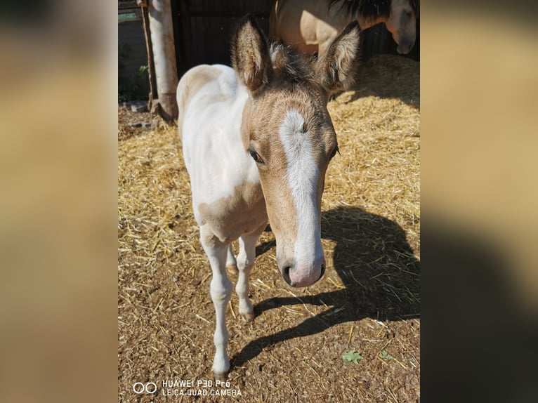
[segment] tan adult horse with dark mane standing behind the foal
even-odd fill
[[[276,0],[269,17],[271,41],[305,53],[327,51],[352,20],[360,29],[385,22],[398,53],[409,53],[416,37],[416,0]]]

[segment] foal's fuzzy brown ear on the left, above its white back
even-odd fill
[[[254,95],[263,89],[273,74],[267,39],[251,14],[239,23],[232,38],[232,66]]]

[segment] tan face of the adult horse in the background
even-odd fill
[[[391,18],[386,26],[398,44],[398,53],[409,53],[416,39],[416,15],[411,0],[392,0]]]

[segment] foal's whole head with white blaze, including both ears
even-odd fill
[[[338,151],[327,100],[353,83],[358,44],[355,23],[320,60],[305,60],[289,48],[270,49],[252,17],[232,40],[232,65],[250,94],[242,141],[258,166],[277,264],[291,286],[314,284],[325,270],[321,197]]]

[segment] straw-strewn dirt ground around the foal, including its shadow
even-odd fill
[[[322,202],[327,272],[291,289],[263,233],[256,319],[238,315],[235,293],[228,307],[228,385],[211,373],[211,270],[176,128],[132,128],[151,117],[119,108],[119,402],[420,401],[419,67],[374,57],[329,103],[341,155]]]

